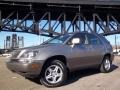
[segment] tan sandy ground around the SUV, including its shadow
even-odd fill
[[[29,80],[9,71],[5,57],[0,57],[0,90],[120,90],[120,57],[113,62],[113,71],[100,73],[88,69],[72,73],[65,85],[46,88],[38,80]]]

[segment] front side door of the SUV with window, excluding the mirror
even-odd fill
[[[78,44],[72,44],[72,40],[75,38],[80,39],[80,43]],[[78,69],[85,67],[87,65],[88,60],[88,48],[86,47],[86,40],[84,33],[77,33],[75,34],[71,40],[70,40],[70,66],[72,66],[73,69]]]

